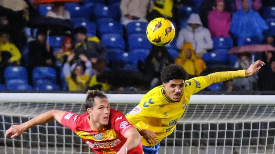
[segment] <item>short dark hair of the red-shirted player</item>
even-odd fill
[[[98,98],[107,98],[107,96],[105,94],[103,94],[103,92],[99,91],[99,90],[88,90],[87,92],[87,98],[86,98],[86,110],[88,108],[92,108],[94,105],[94,98],[98,97]],[[108,98],[107,98],[108,99]]]

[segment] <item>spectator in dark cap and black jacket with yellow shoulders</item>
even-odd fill
[[[107,50],[98,37],[87,37],[87,29],[83,26],[75,29],[78,44],[74,51],[75,57],[84,54],[93,64],[93,69],[100,74],[106,68]]]

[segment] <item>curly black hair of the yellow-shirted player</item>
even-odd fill
[[[170,80],[186,80],[187,79],[187,72],[179,65],[177,64],[170,64],[166,66],[161,71],[161,80],[164,83],[169,82]]]

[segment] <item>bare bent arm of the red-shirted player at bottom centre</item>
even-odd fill
[[[127,138],[127,141],[116,154],[127,154],[129,150],[137,147],[141,141],[141,136],[136,128],[128,129],[123,136]]]

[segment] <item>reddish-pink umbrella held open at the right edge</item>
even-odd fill
[[[228,54],[257,53],[264,51],[275,51],[275,48],[269,44],[245,45],[234,47],[228,51]]]

